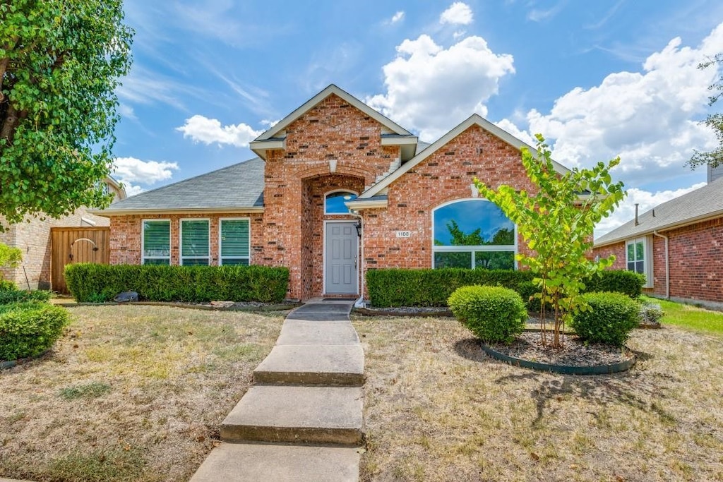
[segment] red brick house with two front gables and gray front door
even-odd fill
[[[288,298],[356,298],[375,268],[515,267],[526,246],[472,180],[533,190],[523,146],[477,115],[428,145],[330,85],[251,143],[258,158],[95,213],[111,264],[286,266]]]

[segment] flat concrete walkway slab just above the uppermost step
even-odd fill
[[[359,335],[351,322],[304,322],[286,320],[276,345],[358,345]]]

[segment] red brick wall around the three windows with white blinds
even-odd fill
[[[113,216],[111,218],[111,264],[141,263],[141,224],[145,219],[171,220],[171,264],[180,264],[179,228],[180,220],[187,218],[205,218],[209,220],[210,230],[210,264],[218,266],[218,220],[219,218],[250,218],[251,219],[251,262],[264,264],[263,257],[263,215],[253,214],[213,214],[200,215],[138,215]]]

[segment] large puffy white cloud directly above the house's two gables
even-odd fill
[[[484,102],[515,72],[513,57],[492,52],[482,37],[443,48],[420,35],[404,40],[397,52],[383,69],[387,92],[365,102],[425,140],[436,140],[472,113],[486,116]]]

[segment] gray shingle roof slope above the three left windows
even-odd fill
[[[229,165],[116,202],[99,214],[143,210],[220,210],[264,205],[264,161]]]

